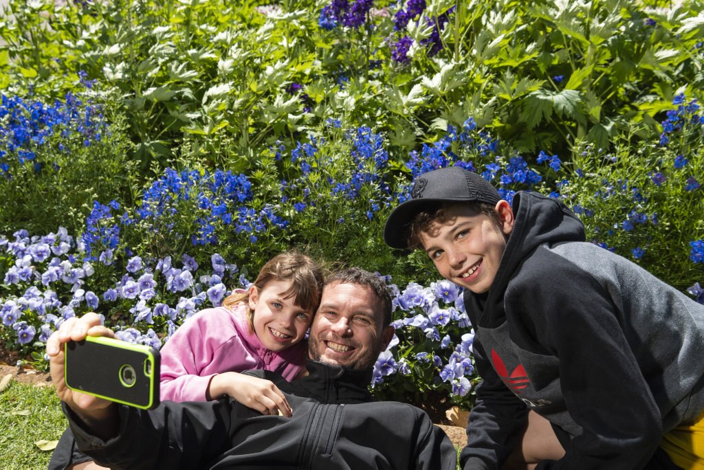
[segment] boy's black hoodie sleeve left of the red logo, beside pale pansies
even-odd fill
[[[482,383],[467,424],[467,447],[460,454],[465,470],[498,469],[519,442],[528,416],[524,403],[499,378],[475,337],[474,365]]]

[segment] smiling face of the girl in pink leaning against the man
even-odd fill
[[[254,312],[254,333],[265,348],[280,351],[306,336],[313,312],[296,305],[296,297],[284,298],[292,281],[271,281],[261,291],[249,288],[249,308]]]

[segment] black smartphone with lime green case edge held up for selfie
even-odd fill
[[[159,404],[159,352],[103,336],[65,343],[66,386],[142,409]]]

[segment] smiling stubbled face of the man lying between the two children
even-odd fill
[[[382,300],[372,288],[358,284],[328,284],[308,337],[313,360],[349,369],[372,367],[394,335],[384,328]]]

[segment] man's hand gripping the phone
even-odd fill
[[[111,329],[101,326],[100,317],[95,313],[87,313],[80,318],[70,318],[63,322],[54,334],[46,340],[46,353],[49,355],[49,371],[54,383],[56,395],[61,401],[71,407],[81,419],[91,424],[91,421],[105,416],[106,409],[111,405],[108,400],[96,398],[86,393],[76,392],[66,386],[63,381],[63,348],[68,341],[81,341],[86,336],[108,336],[114,338]]]

